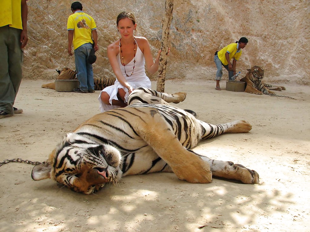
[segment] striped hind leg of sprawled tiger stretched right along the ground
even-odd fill
[[[201,124],[201,139],[210,139],[223,133],[247,133],[252,129],[250,123],[245,120],[237,120],[223,124],[212,125],[207,122],[197,120]]]

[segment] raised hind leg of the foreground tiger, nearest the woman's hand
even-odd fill
[[[152,89],[139,87],[135,89],[128,97],[128,105],[134,103],[148,103],[148,104],[160,104],[169,105],[168,103],[179,103],[186,98],[185,92],[177,92],[174,94],[157,92]]]

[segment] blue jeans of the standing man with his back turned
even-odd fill
[[[78,73],[80,89],[85,92],[95,88],[93,66],[87,62],[91,49],[91,43],[86,43],[74,50],[75,68]]]

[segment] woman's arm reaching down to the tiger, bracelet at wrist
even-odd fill
[[[123,76],[121,68],[119,67],[119,64],[117,62],[117,54],[119,52],[118,51],[119,46],[118,46],[118,44],[116,45],[115,43],[116,42],[114,42],[113,44],[108,45],[108,48],[107,48],[109,62],[110,62],[110,65],[111,65],[111,67],[113,69],[113,72],[116,75],[116,78],[119,81],[119,83],[121,83],[122,86],[126,87],[129,90],[129,88],[131,86],[127,83],[127,80]],[[131,87],[131,89],[132,89],[132,87]]]

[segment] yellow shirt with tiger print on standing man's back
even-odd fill
[[[70,15],[68,18],[67,30],[74,31],[74,50],[83,44],[93,43],[91,38],[91,31],[95,29],[97,28],[94,19],[83,11],[76,11],[74,14]]]

